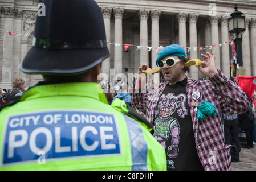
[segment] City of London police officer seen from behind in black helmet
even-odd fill
[[[21,63],[43,82],[0,112],[1,170],[165,170],[151,125],[97,84],[109,57],[93,0],[46,0]]]

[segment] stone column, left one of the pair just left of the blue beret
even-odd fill
[[[140,65],[148,63],[148,14],[149,10],[139,10],[140,16]]]

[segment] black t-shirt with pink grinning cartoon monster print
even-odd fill
[[[156,107],[154,137],[165,148],[168,170],[204,170],[196,151],[186,81],[167,85]]]

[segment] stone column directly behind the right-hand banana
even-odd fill
[[[189,47],[190,59],[198,58],[197,50],[194,51],[194,47],[197,47],[197,14],[189,14]],[[197,67],[190,67],[190,77],[198,80]]]

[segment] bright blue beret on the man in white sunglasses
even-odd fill
[[[156,59],[157,62],[166,57],[166,56],[182,56],[186,57],[186,52],[183,47],[179,46],[178,44],[172,44],[170,46],[166,46],[162,51],[159,52],[159,56]]]

